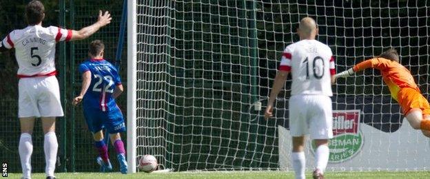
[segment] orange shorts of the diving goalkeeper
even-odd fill
[[[422,94],[417,89],[404,87],[398,92],[397,98],[405,116],[413,108],[421,109],[423,115],[430,114],[429,101],[427,101],[427,98],[424,98],[424,96],[422,96]]]

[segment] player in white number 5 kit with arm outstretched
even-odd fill
[[[109,12],[99,12],[96,23],[79,31],[65,30],[50,26],[43,28],[45,8],[40,1],[30,1],[25,7],[28,26],[13,30],[0,42],[0,52],[15,49],[18,62],[19,108],[18,117],[21,125],[19,138],[19,157],[23,178],[31,178],[30,158],[33,151],[32,131],[34,118],[41,118],[45,134],[46,178],[55,178],[57,161],[57,136],[55,118],[63,116],[60,102],[59,83],[55,75],[55,44],[59,41],[86,39],[111,21]]]

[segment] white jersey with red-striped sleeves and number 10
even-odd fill
[[[280,71],[291,72],[291,96],[298,94],[333,96],[331,75],[336,74],[329,46],[316,40],[288,45],[283,52]]]

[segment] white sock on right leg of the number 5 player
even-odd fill
[[[57,150],[58,150],[57,136],[55,135],[54,131],[50,131],[45,134],[43,149],[45,150],[46,176],[54,176],[55,163],[57,162]]]

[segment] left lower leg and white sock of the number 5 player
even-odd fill
[[[32,133],[34,127],[34,118],[19,118],[21,125],[21,137],[19,138],[19,158],[21,159],[21,167],[23,178],[31,178],[31,155],[33,152]]]

